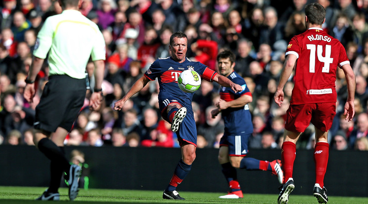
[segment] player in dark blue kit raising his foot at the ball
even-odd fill
[[[144,75],[133,84],[128,93],[115,102],[114,109],[120,110],[124,103],[138,93],[149,81],[156,78],[159,83],[158,102],[163,119],[171,123],[171,130],[176,132],[182,150],[179,161],[169,185],[164,190],[164,199],[184,200],[176,191],[185,176],[189,173],[195,159],[197,131],[193,116],[191,101],[193,93],[185,93],[178,86],[178,77],[184,70],[191,69],[199,73],[202,79],[217,82],[221,86],[229,87],[233,93],[242,91],[242,87],[229,78],[211,70],[207,66],[192,62],[185,57],[188,38],[183,32],[176,32],[170,37],[171,57],[159,58],[147,69]]]

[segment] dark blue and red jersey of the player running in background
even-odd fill
[[[220,98],[229,102],[239,98],[242,95],[250,95],[250,93],[244,79],[237,74],[236,72],[232,72],[228,78],[236,83],[241,85],[243,91],[235,93],[231,90],[230,87],[221,87],[220,88]],[[244,107],[238,108],[227,108],[221,111],[221,117],[224,119],[225,123],[225,133],[224,135],[236,135],[236,134],[250,134],[253,133],[253,124],[252,124],[252,116],[249,111],[248,104],[244,105]]]

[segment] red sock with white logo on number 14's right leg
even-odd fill
[[[316,164],[316,183],[320,184],[321,188],[323,188],[323,179],[327,168],[328,149],[329,145],[327,142],[316,143],[314,153],[314,160]]]

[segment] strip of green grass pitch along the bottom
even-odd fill
[[[13,187],[0,186],[0,204],[55,204],[55,202],[35,201],[45,187]],[[60,188],[60,202],[69,202],[68,190]],[[267,194],[244,194],[243,199],[219,199],[223,193],[185,192],[180,195],[185,201],[163,200],[162,191],[141,190],[112,190],[112,189],[90,189],[80,190],[74,203],[76,204],[107,204],[107,203],[164,203],[164,204],[276,204],[278,195]],[[290,195],[289,204],[318,204],[317,199],[311,196]],[[368,204],[368,198],[357,197],[329,197],[328,204]]]

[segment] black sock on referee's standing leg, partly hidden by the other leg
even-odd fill
[[[65,155],[64,147],[59,147],[60,151]],[[61,178],[64,174],[62,167],[58,161],[51,160],[50,164],[50,186],[47,192],[57,193],[60,187]]]

